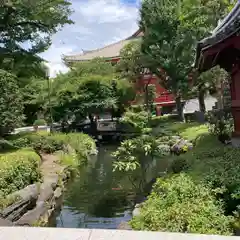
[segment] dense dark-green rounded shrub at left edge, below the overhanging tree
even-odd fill
[[[0,135],[20,126],[22,120],[23,102],[17,80],[0,69]]]

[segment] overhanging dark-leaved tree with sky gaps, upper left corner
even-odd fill
[[[0,66],[10,60],[39,61],[37,53],[51,44],[51,36],[70,24],[68,0],[2,0],[0,2]],[[28,44],[24,49],[22,43]]]

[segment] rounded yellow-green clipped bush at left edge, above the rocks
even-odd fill
[[[0,155],[0,197],[37,182],[40,157],[31,150]]]

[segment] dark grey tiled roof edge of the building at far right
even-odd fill
[[[202,70],[201,65],[203,60],[201,52],[223,42],[224,40],[228,39],[231,36],[238,34],[239,29],[240,29],[240,1],[236,3],[232,11],[212,31],[211,36],[198,42],[194,66],[201,71]],[[214,67],[214,65],[211,67]]]

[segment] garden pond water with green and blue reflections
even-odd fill
[[[68,184],[51,227],[116,229],[131,219],[135,193],[125,174],[112,172],[116,148],[100,146],[98,155]]]

